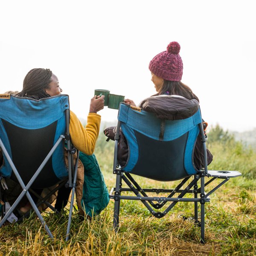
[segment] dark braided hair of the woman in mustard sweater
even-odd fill
[[[45,89],[49,88],[52,71],[44,68],[33,68],[26,74],[23,81],[23,90],[17,94],[19,97],[42,99],[50,97]]]

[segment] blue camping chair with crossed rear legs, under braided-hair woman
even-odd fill
[[[77,151],[74,165],[73,154],[76,149],[71,144],[69,134],[68,95],[35,100],[1,94],[0,109],[0,149],[4,160],[0,169],[0,179],[11,178],[23,189],[4,216],[5,209],[2,210],[0,227],[26,195],[44,229],[53,238],[37,206],[44,203],[56,212],[56,209],[46,200],[61,186],[66,186],[72,188],[67,241],[70,233],[79,159],[79,151]],[[68,151],[68,168],[64,161],[65,141]],[[55,184],[58,186],[45,198],[38,195],[39,201],[35,204],[30,193],[36,195],[33,188],[44,189]]]

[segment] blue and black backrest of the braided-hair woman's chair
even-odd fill
[[[65,134],[68,96],[35,100],[10,95],[9,99],[0,99],[0,107],[0,139],[26,184],[60,135]],[[52,186],[68,175],[63,143],[58,145],[32,188]],[[0,172],[3,177],[17,181],[5,156]]]

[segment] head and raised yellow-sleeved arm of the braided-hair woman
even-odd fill
[[[62,92],[59,81],[51,70],[34,68],[27,73],[23,81],[23,90],[16,96],[32,99],[43,99],[59,95]],[[99,96],[98,96],[99,97]],[[87,125],[81,124],[77,116],[70,111],[70,136],[73,145],[84,154],[91,155],[95,149],[99,136],[101,116],[98,111],[104,108],[104,96],[94,96],[90,102],[90,111],[87,116]]]

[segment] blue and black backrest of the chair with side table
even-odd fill
[[[202,122],[200,109],[187,119],[170,121],[121,103],[118,120],[129,148],[123,171],[161,181],[198,172],[193,150]]]

